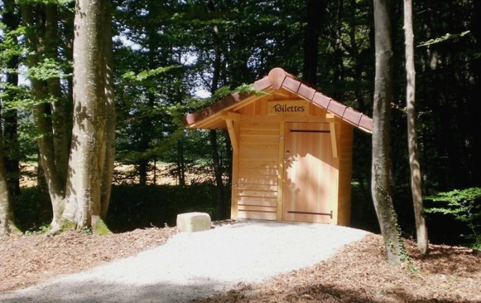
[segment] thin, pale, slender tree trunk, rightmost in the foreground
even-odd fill
[[[412,31],[412,0],[404,0],[404,34],[406,52],[406,110],[407,110],[407,148],[411,168],[412,202],[416,219],[416,239],[418,250],[426,254],[428,249],[427,227],[423,210],[421,190],[421,168],[418,160],[418,140],[416,139],[416,71],[414,69],[414,34]]]

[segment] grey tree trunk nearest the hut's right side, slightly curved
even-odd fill
[[[405,260],[401,231],[392,204],[390,172],[390,102],[392,102],[393,61],[390,1],[374,0],[376,34],[376,76],[374,84],[371,192],[388,262]]]

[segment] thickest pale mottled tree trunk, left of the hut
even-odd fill
[[[109,1],[76,1],[74,127],[64,218],[78,229],[100,223],[105,159],[106,104],[104,25]]]

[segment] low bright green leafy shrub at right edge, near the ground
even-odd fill
[[[481,249],[481,188],[439,192],[425,199],[440,204],[425,207],[425,212],[454,216],[469,229],[469,234],[462,236],[469,240],[471,247]]]

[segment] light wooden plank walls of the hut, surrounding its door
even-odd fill
[[[292,97],[292,96],[289,96]],[[332,224],[350,224],[353,126],[311,104],[310,115],[268,115],[266,96],[234,111],[238,147],[233,159],[232,218],[282,219],[282,174],[286,122],[330,122],[335,133],[331,165]],[[232,131],[232,129],[231,129]]]

